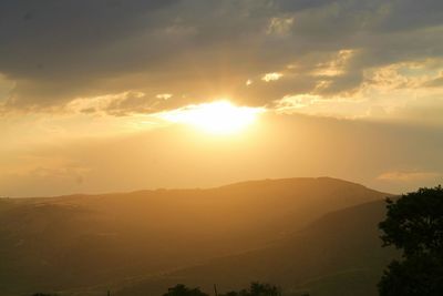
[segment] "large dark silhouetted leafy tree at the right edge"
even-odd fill
[[[383,246],[402,251],[379,283],[381,296],[443,295],[443,188],[420,188],[387,200],[379,224]]]

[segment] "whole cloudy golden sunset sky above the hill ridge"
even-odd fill
[[[2,0],[0,196],[443,183],[441,0]]]

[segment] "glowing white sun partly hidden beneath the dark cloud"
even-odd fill
[[[244,131],[262,112],[262,108],[237,106],[228,100],[220,100],[163,112],[159,118],[188,124],[210,134],[226,135]]]

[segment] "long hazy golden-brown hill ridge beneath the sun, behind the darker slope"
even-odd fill
[[[271,258],[272,242],[298,237],[328,212],[385,196],[320,177],[0,200],[0,294],[116,286],[254,249]]]

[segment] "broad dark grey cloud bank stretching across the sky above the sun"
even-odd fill
[[[351,91],[365,69],[440,59],[442,20],[439,0],[4,0],[0,73],[17,83],[11,109],[130,90],[175,94],[156,109],[217,93],[266,104],[324,81],[323,94]],[[312,74],[346,49],[359,54],[343,73]],[[245,88],[268,72],[285,76]],[[123,109],[132,106],[150,110],[141,99]]]

